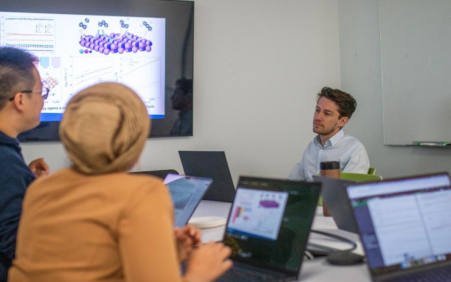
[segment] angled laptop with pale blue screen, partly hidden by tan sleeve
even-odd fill
[[[174,205],[174,225],[183,227],[212,183],[210,178],[168,174],[164,183]]]

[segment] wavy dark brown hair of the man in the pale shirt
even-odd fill
[[[341,91],[340,89],[323,87],[321,91],[316,94],[316,102],[318,103],[319,99],[322,97],[331,99],[335,102],[335,104],[337,104],[338,112],[340,113],[338,118],[342,118],[343,116],[351,118],[352,114],[356,110],[356,99],[354,99],[351,94]]]

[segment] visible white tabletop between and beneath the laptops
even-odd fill
[[[202,200],[194,211],[192,217],[220,216],[227,218],[231,205],[231,203],[226,202]],[[202,242],[207,243],[211,240],[222,240],[225,228],[226,226],[222,225],[215,228],[202,229]],[[357,254],[363,254],[359,236],[354,233],[337,229],[332,217],[323,216],[321,207],[316,209],[312,229],[325,231],[351,239],[357,244],[357,249],[354,250],[354,252]],[[309,242],[342,250],[350,248],[349,244],[315,233],[310,234]],[[366,264],[354,266],[334,266],[327,263],[325,258],[316,258],[303,260],[300,280],[309,282],[371,281],[371,276],[367,270]]]

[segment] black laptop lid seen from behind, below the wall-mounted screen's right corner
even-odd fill
[[[204,200],[233,202],[235,187],[223,151],[178,151],[186,175],[213,179]]]

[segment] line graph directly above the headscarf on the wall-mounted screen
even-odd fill
[[[73,57],[73,92],[103,82],[114,82],[113,58]]]

